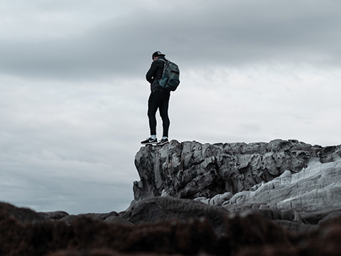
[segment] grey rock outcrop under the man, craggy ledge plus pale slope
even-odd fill
[[[190,198],[230,213],[252,210],[299,232],[341,215],[341,146],[173,140],[142,147],[135,164],[136,201]]]

